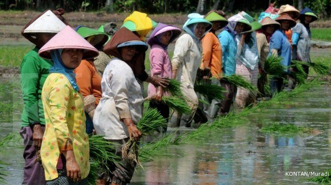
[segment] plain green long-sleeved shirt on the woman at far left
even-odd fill
[[[21,86],[24,109],[22,126],[34,123],[45,124],[41,92],[52,62],[38,56],[38,48],[29,51],[21,64]]]

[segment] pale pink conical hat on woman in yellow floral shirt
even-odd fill
[[[73,28],[66,26],[48,41],[38,54],[45,59],[51,59],[52,49],[75,48],[84,49],[83,59],[91,59],[99,55],[99,51],[82,38]]]

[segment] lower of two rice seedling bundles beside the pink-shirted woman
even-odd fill
[[[163,96],[162,102],[169,106],[169,108],[175,110],[180,114],[191,113],[191,108],[188,106],[183,98],[176,96]]]

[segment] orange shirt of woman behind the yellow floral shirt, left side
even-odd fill
[[[75,69],[76,82],[83,96],[93,95],[96,98],[96,105],[102,97],[101,76],[92,61],[82,60]]]

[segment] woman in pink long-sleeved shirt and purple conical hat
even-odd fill
[[[150,62],[152,76],[172,78],[172,66],[167,49],[169,44],[179,37],[180,33],[181,30],[175,26],[163,23],[157,24],[148,40],[148,44],[151,46]],[[156,108],[168,120],[169,107],[161,102],[162,96],[165,94],[166,92],[162,86],[155,87],[152,83],[148,85],[148,96],[155,96],[155,101],[151,101],[149,106]]]

